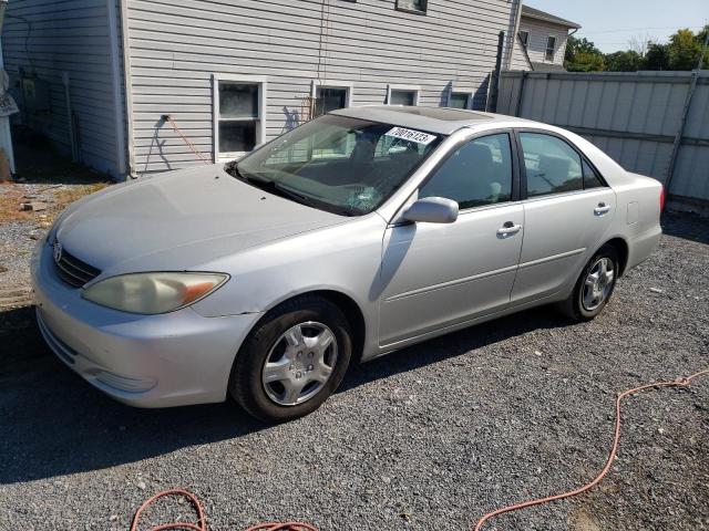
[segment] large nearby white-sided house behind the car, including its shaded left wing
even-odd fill
[[[16,92],[48,88],[21,119],[120,178],[233,158],[341,106],[484,108],[520,2],[12,0],[2,44]]]

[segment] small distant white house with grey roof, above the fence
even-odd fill
[[[563,71],[569,30],[578,29],[576,22],[523,6],[511,70]]]

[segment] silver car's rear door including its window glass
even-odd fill
[[[517,131],[524,241],[512,302],[551,295],[573,282],[602,244],[616,211],[615,192],[566,138]]]

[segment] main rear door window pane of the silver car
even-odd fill
[[[584,170],[576,150],[561,138],[542,133],[520,133],[527,177],[527,196],[582,190]]]

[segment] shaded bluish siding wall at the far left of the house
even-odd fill
[[[120,31],[120,28],[116,28]],[[14,95],[21,94],[20,69],[49,83],[50,110],[25,112],[20,121],[71,154],[62,73],[70,76],[70,98],[79,127],[81,159],[119,176],[114,82],[106,0],[12,0],[2,32],[6,70]]]

